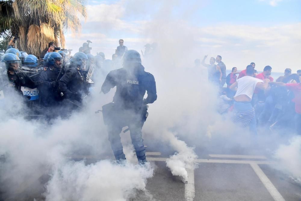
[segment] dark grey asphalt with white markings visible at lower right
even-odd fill
[[[264,155],[202,154],[194,178],[184,184],[166,167],[164,160],[170,153],[159,155],[158,150],[147,149],[149,161],[156,166],[154,177],[147,181],[148,200],[301,201],[301,186],[275,170]]]

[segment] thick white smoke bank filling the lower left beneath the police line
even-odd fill
[[[26,200],[42,194],[46,200],[126,200],[135,190],[145,190],[146,179],[153,175],[149,164],[118,165],[101,160],[113,159],[113,155],[102,117],[94,111],[108,99],[111,101],[112,93],[108,98],[95,94],[85,110],[74,112],[68,119],[58,118],[51,125],[18,115],[1,116],[3,199]],[[15,111],[14,104],[6,106]],[[74,161],[80,155],[92,155],[100,161],[90,165],[86,164],[91,162]]]

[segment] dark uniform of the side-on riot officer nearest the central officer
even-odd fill
[[[87,73],[80,68],[70,66],[59,81],[59,89],[64,99],[82,102],[82,96],[89,93],[89,84],[86,81]]]

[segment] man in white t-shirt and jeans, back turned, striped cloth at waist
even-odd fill
[[[242,77],[234,82],[230,89],[236,91],[234,96],[234,118],[235,123],[242,126],[249,126],[250,131],[257,134],[255,111],[251,104],[255,88],[265,90],[268,87],[269,79],[260,80],[254,76],[254,68],[247,66],[247,76]]]

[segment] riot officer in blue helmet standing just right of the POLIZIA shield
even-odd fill
[[[45,55],[46,56],[46,55]],[[43,106],[56,106],[61,101],[58,80],[63,76],[62,56],[58,52],[51,52],[48,55],[46,66],[39,77],[39,90],[41,104]]]

